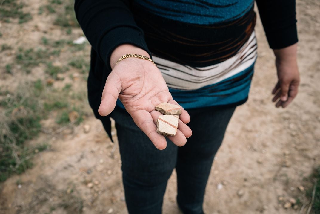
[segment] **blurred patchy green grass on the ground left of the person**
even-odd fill
[[[84,87],[90,45],[87,41],[73,42],[81,32],[73,9],[74,1],[49,0],[42,4],[34,12],[36,16],[49,17],[53,28],[63,35],[57,38],[49,31],[39,30],[42,36],[38,43],[17,44],[3,40],[0,48],[0,54],[9,56],[1,63],[1,78],[19,81],[16,86],[0,86],[0,182],[31,168],[32,158],[50,148],[46,142],[29,145],[28,141],[40,132],[55,135],[66,126],[77,126],[90,112]],[[34,19],[31,12],[26,12],[27,2],[1,0],[0,5],[1,22],[28,26]],[[38,28],[37,25],[32,27]],[[0,37],[3,34],[0,31]],[[35,69],[40,69],[41,78],[35,75]],[[30,78],[26,81],[25,77]],[[55,124],[45,127],[41,121],[52,117]]]

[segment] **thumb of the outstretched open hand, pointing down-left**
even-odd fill
[[[121,81],[117,74],[111,72],[107,78],[106,85],[104,86],[101,103],[99,107],[99,114],[107,116],[116,107],[116,101],[121,92]]]

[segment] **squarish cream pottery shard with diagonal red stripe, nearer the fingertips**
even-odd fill
[[[175,136],[178,122],[178,115],[160,115],[157,119],[157,133],[165,136]]]

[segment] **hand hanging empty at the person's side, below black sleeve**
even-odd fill
[[[272,101],[276,102],[277,108],[285,108],[298,94],[300,76],[296,57],[297,44],[274,50],[274,53],[278,82],[272,90],[272,94],[275,95]]]

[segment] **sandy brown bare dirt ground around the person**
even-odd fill
[[[27,2],[27,1],[26,1]],[[24,24],[0,22],[1,44],[14,47],[0,53],[0,86],[9,90],[21,81],[34,81],[44,75],[40,64],[24,75],[18,66],[13,74],[4,65],[14,59],[16,47],[36,47],[41,37],[82,36],[81,29],[65,29],[52,24],[53,15],[38,14],[44,1],[26,3],[33,19]],[[208,214],[306,213],[300,210],[308,187],[306,177],[320,165],[320,2],[297,1],[299,32],[298,64],[300,92],[286,109],[276,109],[271,90],[276,83],[274,56],[269,49],[260,19],[257,19],[258,59],[249,100],[236,109],[212,166],[204,199]],[[68,64],[65,56],[52,59]],[[89,45],[72,53],[89,60]],[[85,80],[68,78],[74,90],[84,90]],[[61,87],[60,81],[53,86]],[[90,112],[89,106],[88,112]],[[52,120],[42,122],[49,126]],[[86,129],[84,131],[84,128]],[[88,130],[90,128],[90,130]],[[114,135],[116,131],[114,130]],[[21,175],[0,183],[0,213],[127,213],[117,144],[112,144],[100,121],[90,112],[79,126],[68,127],[59,135],[41,133],[28,144],[46,141],[50,148],[33,159],[35,165]],[[19,185],[17,181],[19,180]],[[163,213],[180,213],[176,205],[176,174],[173,171],[164,196]],[[297,206],[285,209],[290,198]]]

